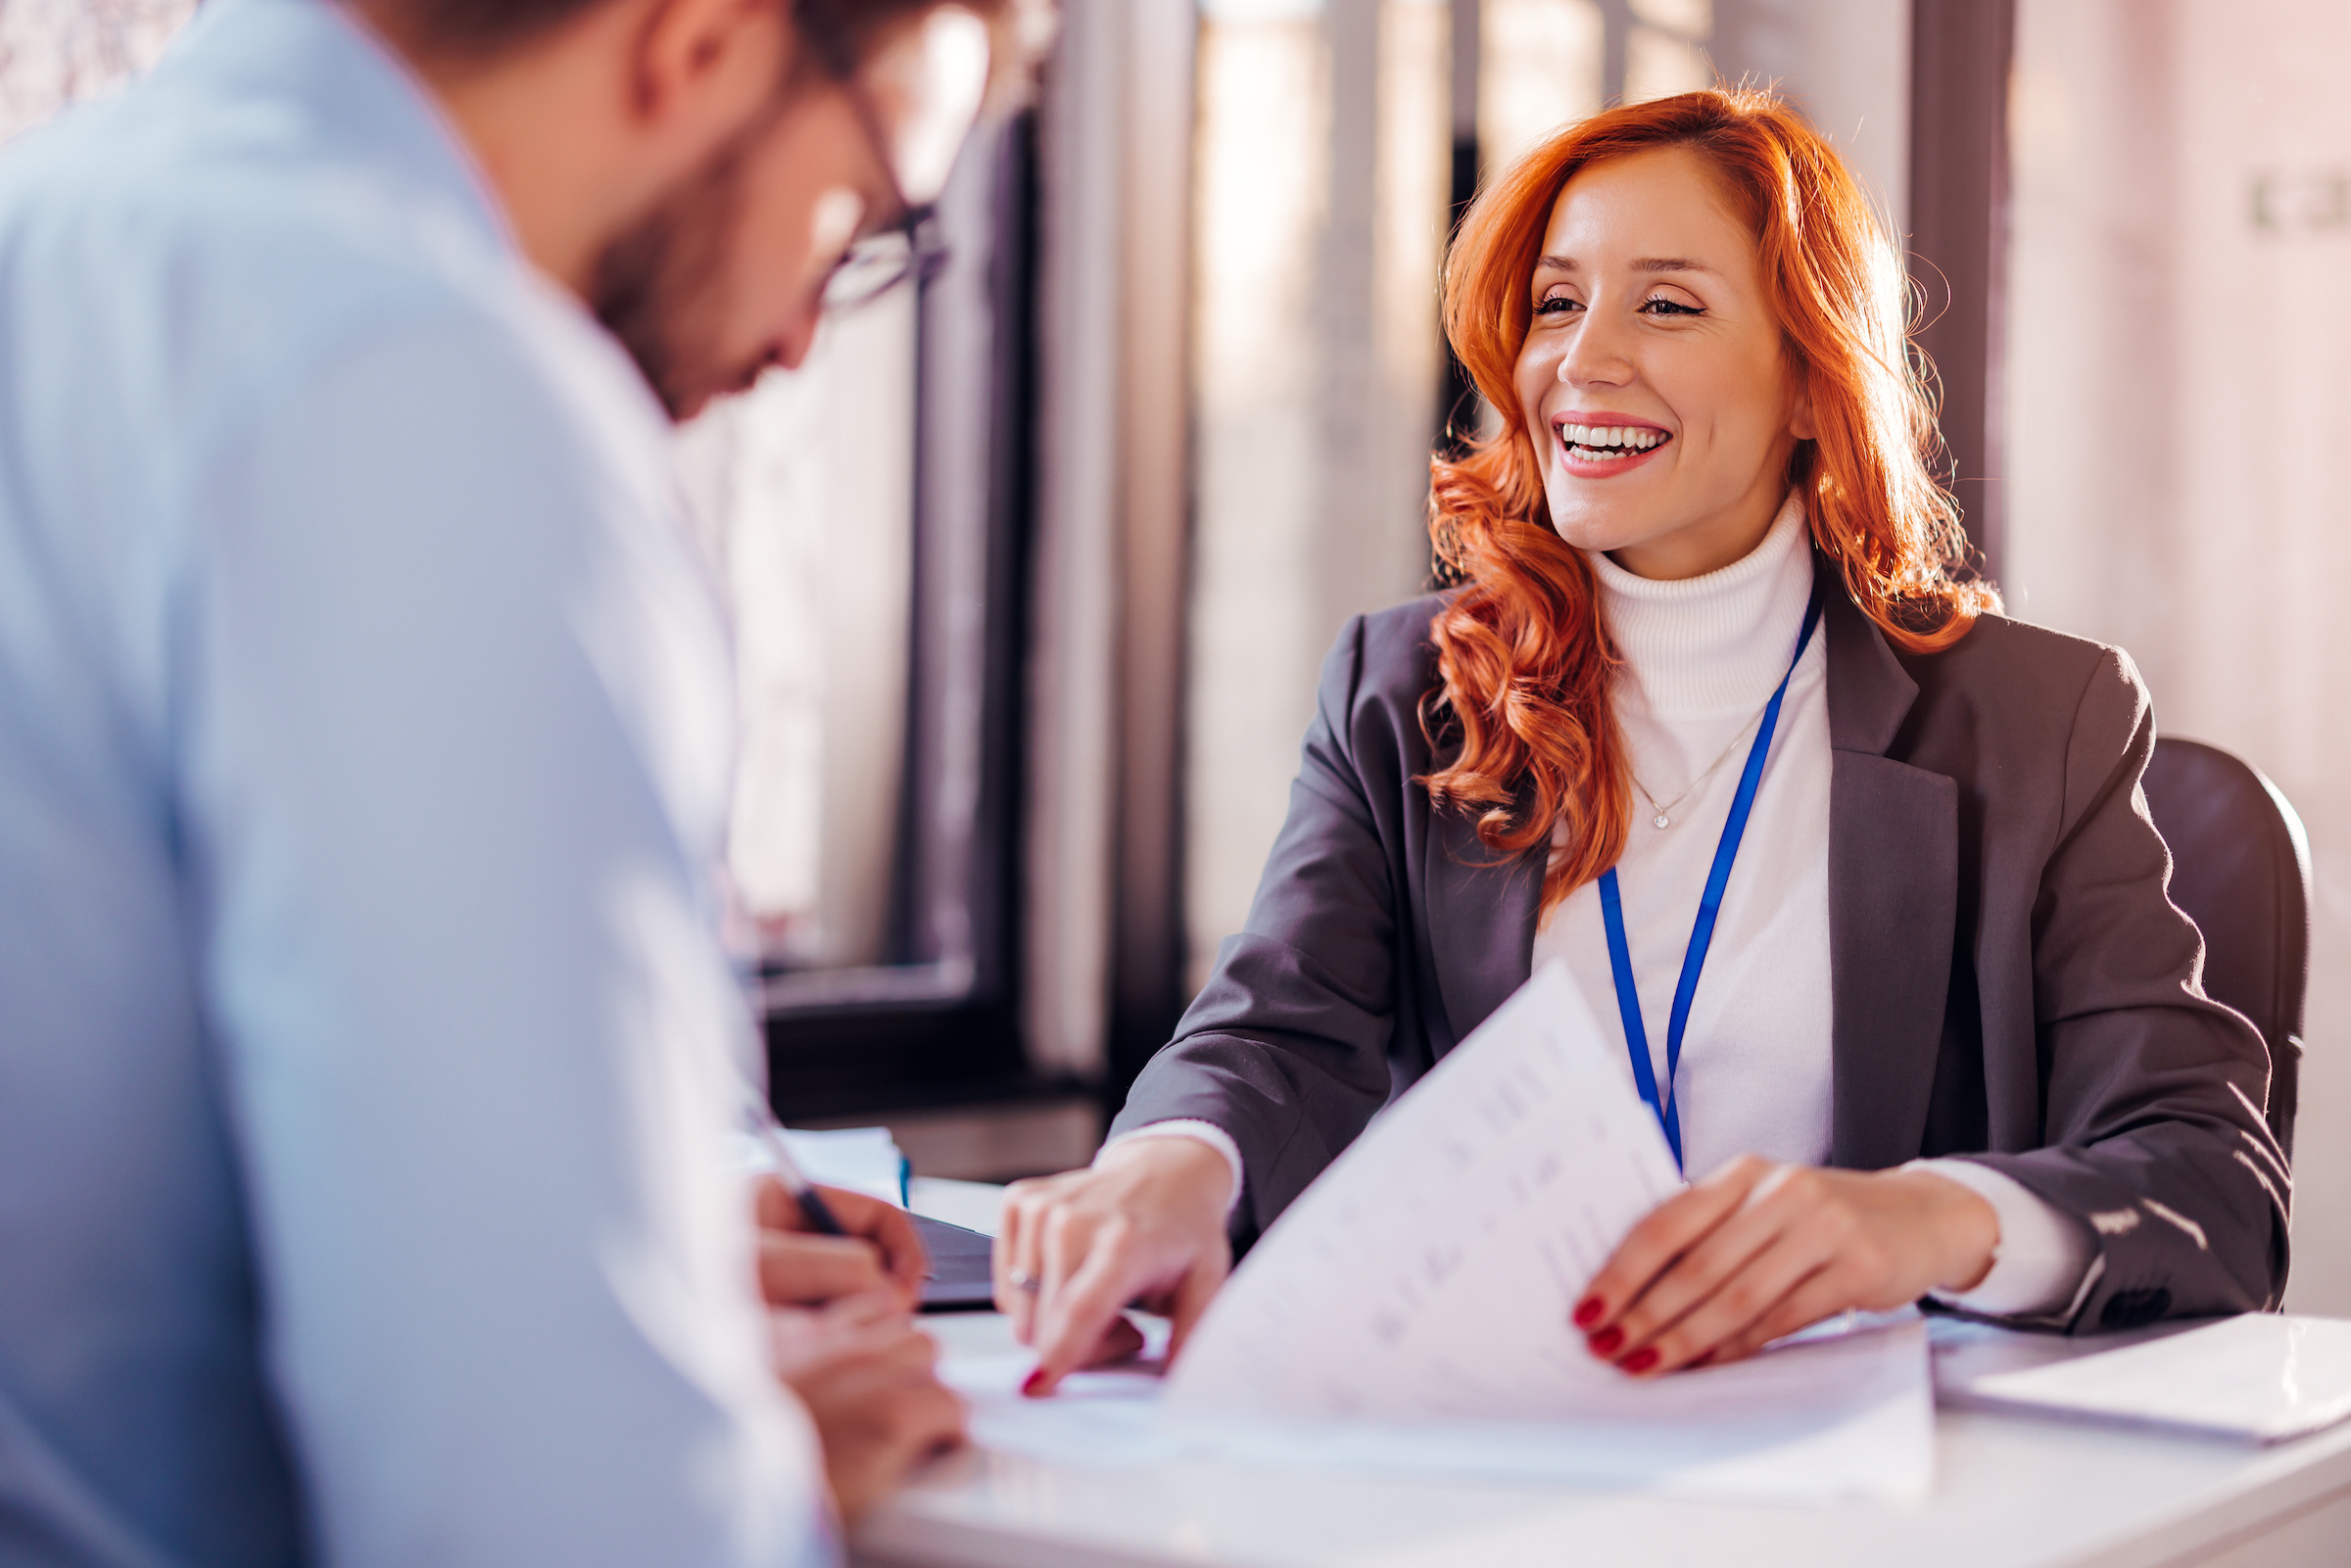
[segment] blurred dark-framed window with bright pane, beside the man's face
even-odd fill
[[[736,618],[736,938],[792,1117],[1025,1081],[1032,162],[1030,120],[973,136],[936,275],[679,437]]]

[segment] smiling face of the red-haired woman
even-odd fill
[[[1697,153],[1582,169],[1552,207],[1528,287],[1519,407],[1559,536],[1650,578],[1754,550],[1813,411],[1756,242]]]

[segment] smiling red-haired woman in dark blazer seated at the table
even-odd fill
[[[1935,1298],[2083,1331],[2273,1305],[2269,1056],[2198,985],[2128,656],[2008,621],[1930,475],[1902,268],[1768,94],[1559,132],[1479,197],[1434,465],[1460,585],[1345,628],[1241,936],[1093,1168],[1020,1182],[1032,1392],[1178,1342],[1538,964],[1700,1180],[1573,1312],[1632,1375]]]

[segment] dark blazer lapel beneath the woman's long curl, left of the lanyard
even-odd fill
[[[1547,851],[1500,860],[1465,813],[1432,811],[1425,853],[1429,959],[1453,1030],[1453,1039],[1432,1039],[1429,1053],[1444,1056],[1526,985]]]

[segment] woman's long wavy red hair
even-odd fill
[[[1965,576],[1958,510],[1928,468],[1940,435],[1900,259],[1836,150],[1777,96],[1747,89],[1629,103],[1561,129],[1479,195],[1446,256],[1446,336],[1500,428],[1429,465],[1436,559],[1467,585],[1429,628],[1439,686],[1422,698],[1432,745],[1460,743],[1422,780],[1434,806],[1474,813],[1479,839],[1509,856],[1566,825],[1545,910],[1625,851],[1632,769],[1592,567],[1552,531],[1514,371],[1561,188],[1594,162],[1667,146],[1714,169],[1756,237],[1820,433],[1796,444],[1789,484],[1855,604],[1914,651],[1951,646],[2001,607]]]

